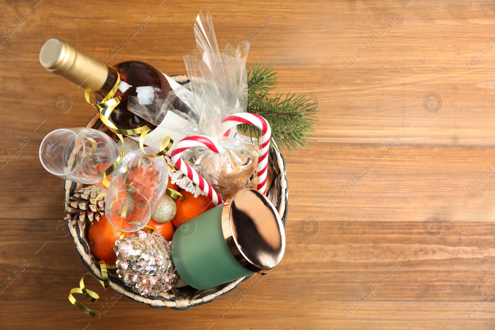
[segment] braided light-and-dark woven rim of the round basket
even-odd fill
[[[98,119],[95,120],[97,114],[90,119],[88,122],[87,127],[93,127],[96,122],[98,122]],[[278,147],[277,143],[272,139],[272,143],[270,146],[270,150],[273,152],[273,160],[276,160],[276,164],[273,164],[276,166],[278,169],[278,175],[275,177],[274,176],[274,183],[273,186],[277,188],[278,193],[277,196],[279,198],[276,208],[279,212],[279,215],[282,219],[282,222],[285,226],[286,220],[287,220],[287,213],[288,213],[288,204],[287,204],[287,199],[288,199],[288,182],[287,182],[287,176],[286,176],[286,163],[285,159],[283,158],[280,148]],[[76,187],[74,187],[74,184],[66,180],[64,182],[64,189],[65,189],[65,199],[64,202],[67,201],[71,195],[71,190],[74,191],[75,189],[80,189],[83,187],[82,184],[76,184]],[[65,205],[65,204],[64,204]],[[69,215],[68,215],[69,216]],[[77,225],[74,227],[71,224],[71,220],[67,220],[67,228],[69,230],[70,235],[74,239],[75,243],[75,248],[76,252],[81,259],[81,261],[86,265],[86,267],[95,275],[97,278],[101,279],[101,270],[99,268],[99,263],[98,261],[94,258],[93,254],[91,253],[91,250],[89,249],[88,246],[86,245],[86,242],[82,239],[81,233],[82,233],[82,227],[81,223],[78,221]],[[126,290],[124,287],[119,285],[118,283],[112,281],[114,278],[109,277],[109,285],[110,287],[128,298],[140,302],[140,303],[146,303],[152,308],[164,308],[164,307],[170,307],[172,309],[177,309],[177,310],[185,310],[185,309],[190,309],[193,307],[196,307],[201,304],[205,304],[208,302],[211,302],[218,298],[218,296],[225,294],[227,292],[232,291],[235,289],[240,283],[243,281],[246,281],[251,275],[237,279],[235,281],[232,281],[230,283],[225,283],[223,285],[220,285],[217,289],[212,288],[209,290],[204,290],[201,294],[198,295],[197,298],[188,300],[184,299],[182,297],[173,297],[171,299],[164,298],[162,296],[157,296],[152,299],[146,298],[144,296],[141,296],[139,294],[136,294],[132,291]],[[166,299],[166,300],[162,300]]]

